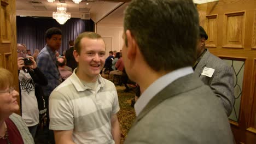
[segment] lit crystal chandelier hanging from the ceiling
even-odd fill
[[[53,18],[63,25],[68,19],[70,19],[70,13],[67,12],[67,4],[65,3],[58,3],[57,4],[57,11],[53,12]]]

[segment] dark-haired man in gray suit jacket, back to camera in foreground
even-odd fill
[[[141,87],[125,143],[234,143],[211,88],[193,74],[199,16],[192,0],[133,0],[125,10],[123,61]]]

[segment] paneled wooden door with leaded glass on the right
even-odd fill
[[[206,47],[234,68],[230,124],[236,143],[256,143],[256,0],[219,0],[196,6]]]

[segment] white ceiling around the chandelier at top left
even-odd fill
[[[123,2],[102,0],[83,0],[79,4],[75,4],[72,0],[55,0],[54,3],[49,3],[47,0],[16,0],[16,15],[52,17],[57,8],[56,4],[60,2],[67,4],[67,12],[71,13],[71,17],[80,17],[83,13],[91,13],[91,19],[94,22],[101,20],[101,23],[123,21],[123,10],[127,5]],[[109,14],[112,11],[113,13]],[[106,17],[106,15],[108,16]],[[103,19],[103,17],[106,18]]]

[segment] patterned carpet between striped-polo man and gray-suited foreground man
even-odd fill
[[[118,120],[121,129],[121,143],[123,143],[135,119],[135,111],[133,107],[131,107],[131,100],[135,97],[135,92],[123,92],[123,89],[118,88],[117,92],[120,106],[120,111],[118,112]]]

